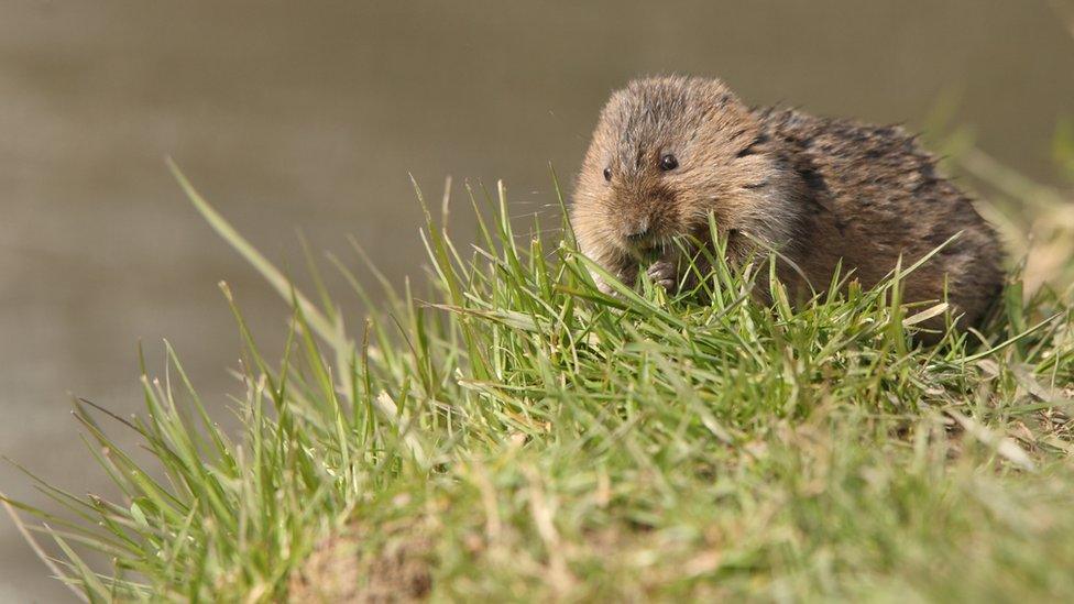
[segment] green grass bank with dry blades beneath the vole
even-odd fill
[[[609,297],[569,224],[518,237],[502,187],[468,188],[480,246],[429,216],[427,290],[370,267],[374,296],[330,259],[386,300],[354,325],[176,175],[291,330],[266,359],[222,285],[235,440],[174,354],[140,418],[76,405],[122,496],[37,481],[65,514],[8,505],[84,600],[1074,600],[1068,288],[1016,273],[989,326],[931,348],[912,334],[942,307],[898,304],[905,272],[800,308],[750,301],[766,259],[717,262],[703,305]],[[1071,232],[1048,237],[1026,245]]]

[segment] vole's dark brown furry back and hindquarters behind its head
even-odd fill
[[[935,160],[895,127],[873,127],[760,110],[768,136],[804,183],[803,211],[790,251],[826,285],[836,262],[866,285],[947,244],[907,281],[908,299],[949,299],[972,325],[1002,284],[1000,245],[969,199],[938,174]]]

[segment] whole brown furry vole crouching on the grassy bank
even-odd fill
[[[670,161],[669,161],[670,157]],[[661,164],[662,167],[661,167]],[[582,252],[621,279],[679,283],[677,235],[732,262],[772,246],[822,290],[842,261],[866,286],[961,233],[909,275],[907,301],[947,299],[975,322],[1002,283],[1000,246],[968,198],[898,128],[749,109],[722,83],[631,83],[601,113],[574,193]],[[808,290],[789,264],[780,277]]]

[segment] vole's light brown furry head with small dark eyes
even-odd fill
[[[780,219],[772,199],[788,180],[772,146],[719,80],[632,81],[601,112],[578,178],[582,251],[599,262],[646,257],[676,235],[706,239],[710,215],[724,233],[779,239],[781,229],[765,229]]]

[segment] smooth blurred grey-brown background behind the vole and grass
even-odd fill
[[[503,178],[514,213],[539,210],[548,163],[569,184],[609,91],[644,74],[719,75],[747,102],[912,129],[946,114],[1057,184],[1052,139],[1074,113],[1060,14],[1045,0],[0,0],[0,454],[109,493],[70,397],[136,411],[138,344],[163,373],[164,338],[227,422],[239,340],[221,279],[277,350],[284,306],[185,200],[168,155],[278,264],[302,271],[299,230],[347,259],[352,234],[396,283],[423,271],[408,173],[435,199],[447,175],[457,196]],[[11,464],[0,491],[45,502]],[[68,597],[47,574],[0,519],[0,601]]]

